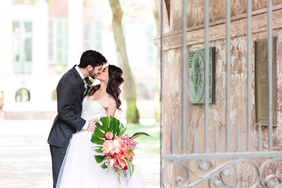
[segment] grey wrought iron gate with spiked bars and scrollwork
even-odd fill
[[[163,5],[164,2],[161,0],[161,116],[163,115],[163,101],[164,94],[164,81],[163,81],[163,70],[164,70],[164,32],[163,32]],[[187,30],[187,0],[183,0],[182,7],[182,87],[186,88],[187,86],[187,41],[186,41],[186,30]],[[204,6],[204,85],[209,85],[209,0],[205,0]],[[263,187],[282,187],[281,177],[276,176],[275,174],[269,174],[264,179],[262,177],[262,172],[264,167],[274,160],[282,160],[282,152],[273,152],[273,122],[272,118],[268,118],[268,151],[262,151],[262,133],[261,125],[259,124],[259,134],[258,134],[258,150],[257,152],[251,151],[251,0],[247,0],[247,152],[241,152],[240,144],[240,125],[238,125],[237,132],[237,152],[230,152],[230,24],[231,24],[231,15],[230,15],[230,0],[226,0],[226,152],[219,153],[219,140],[218,140],[218,128],[217,125],[209,125],[209,87],[204,87],[204,127],[205,127],[205,151],[204,153],[197,152],[197,138],[196,138],[196,128],[194,127],[194,152],[187,153],[187,117],[186,117],[186,108],[187,108],[187,93],[186,90],[182,90],[182,154],[176,154],[175,144],[174,144],[174,131],[172,130],[172,144],[171,144],[171,154],[162,155],[161,153],[161,187],[164,187],[164,172],[166,171],[168,165],[178,163],[182,165],[186,171],[187,178],[177,177],[175,179],[177,187],[197,187],[204,181],[208,181],[209,187],[234,187],[227,184],[223,177],[229,175],[229,167],[232,164],[238,162],[247,162],[254,165],[254,168],[257,171],[258,177],[255,184],[252,187],[257,187],[259,184]],[[268,0],[268,83],[273,81],[272,73],[272,1]],[[268,117],[273,115],[273,93],[272,85],[268,84]],[[209,153],[209,127],[215,126],[215,152]],[[161,132],[164,129],[163,121],[161,120]],[[163,135],[161,133],[161,147],[163,143]],[[259,167],[253,161],[248,160],[247,158],[267,158],[267,160]],[[268,159],[269,158],[269,159]],[[227,162],[214,167],[211,160],[226,159]],[[187,161],[191,160],[201,160],[199,163],[199,168],[205,171],[204,174],[197,174],[189,168],[186,164]],[[162,166],[166,162],[165,166]],[[197,177],[197,180],[190,181],[189,174],[193,174]],[[212,183],[211,179],[215,178],[216,181]],[[274,179],[276,181],[274,181]],[[278,182],[278,183],[277,183]],[[201,186],[200,186],[201,187]]]

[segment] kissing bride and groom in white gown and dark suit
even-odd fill
[[[128,184],[124,181],[119,183],[117,174],[113,171],[107,173],[94,158],[94,155],[99,155],[91,148],[98,145],[90,142],[95,122],[101,117],[114,116],[116,110],[121,110],[122,70],[114,65],[105,66],[106,63],[101,53],[85,51],[80,63],[59,80],[58,115],[47,140],[52,157],[54,188],[146,187],[137,168]],[[89,77],[101,83],[92,86]]]

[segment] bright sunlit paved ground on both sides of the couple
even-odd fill
[[[53,120],[0,120],[0,188],[51,188],[46,143]],[[140,148],[142,149],[142,148]],[[135,164],[149,188],[160,187],[160,157],[139,151]]]

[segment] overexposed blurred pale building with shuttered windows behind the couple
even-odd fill
[[[122,7],[123,31],[137,107],[152,111],[157,87],[157,48],[152,39],[157,29],[150,7],[134,6],[140,2]],[[5,93],[6,118],[54,117],[57,83],[85,50],[99,51],[118,66],[108,1],[5,0],[0,1],[0,20],[0,90]],[[122,109],[120,117],[125,116],[125,106]],[[144,116],[150,114],[153,117],[153,112]]]

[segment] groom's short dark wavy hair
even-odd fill
[[[87,50],[82,53],[78,66],[81,68],[86,68],[88,65],[91,65],[94,68],[100,65],[105,65],[106,63],[106,58],[100,52],[95,50]]]

